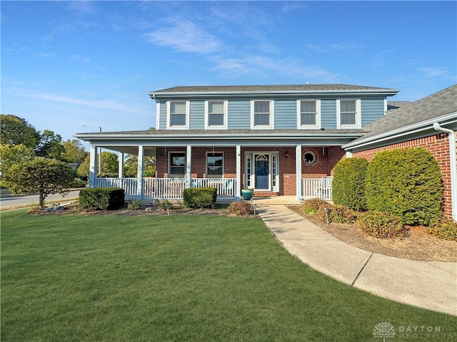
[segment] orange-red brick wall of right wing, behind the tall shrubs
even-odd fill
[[[446,133],[438,133],[431,135],[426,138],[408,140],[405,142],[398,142],[396,144],[387,145],[383,147],[373,148],[371,150],[365,150],[361,152],[353,153],[353,157],[363,157],[370,161],[373,159],[377,152],[385,150],[395,150],[397,148],[406,147],[425,147],[433,157],[435,157],[438,165],[441,168],[441,177],[443,180],[443,214],[447,217],[452,216],[452,204],[451,204],[451,166],[450,166],[450,155],[449,155],[449,137]]]

